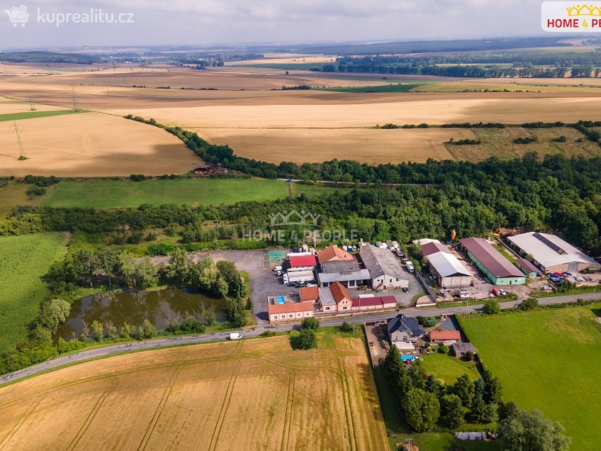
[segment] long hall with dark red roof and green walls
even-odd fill
[[[521,285],[526,283],[524,273],[511,264],[483,238],[459,240],[468,257],[495,285]]]

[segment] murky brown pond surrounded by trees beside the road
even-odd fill
[[[181,322],[186,316],[201,318],[201,304],[215,306],[217,321],[225,321],[228,312],[225,299],[213,299],[184,289],[95,294],[74,301],[69,318],[60,325],[56,338],[79,338],[84,321],[90,333],[91,323],[94,321],[104,325],[111,321],[117,330],[120,330],[125,322],[139,326],[147,319],[155,324],[157,329],[164,329],[174,319]]]

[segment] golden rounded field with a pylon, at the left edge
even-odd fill
[[[9,130],[4,123],[4,131]],[[16,136],[0,126],[0,175],[127,176],[181,174],[201,160],[173,135],[101,113],[23,121],[19,161]]]

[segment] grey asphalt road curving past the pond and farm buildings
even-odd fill
[[[599,298],[599,296],[597,296]],[[597,299],[595,298],[595,299]],[[577,299],[593,299],[593,294],[572,294],[568,296],[555,296],[550,298],[541,298],[539,299],[539,304],[560,304],[560,303],[569,303],[575,302]],[[500,304],[501,308],[512,308],[517,304],[516,301],[503,302]],[[475,311],[480,311],[483,304],[475,304],[472,306],[466,307],[449,307],[449,308],[404,308],[401,310],[403,314],[406,316],[440,316],[443,314],[453,314],[453,313],[471,313]],[[322,325],[341,325],[346,321],[347,323],[364,323],[369,321],[381,321],[391,318],[396,313],[379,313],[373,315],[357,315],[357,316],[345,316],[342,318],[333,318],[330,320],[322,320]],[[265,330],[274,330],[276,332],[283,332],[287,330],[292,330],[293,328],[299,328],[298,324],[284,324],[277,326],[257,326],[254,329],[247,330],[239,330],[242,336],[248,337],[256,337],[257,335],[261,335]],[[235,330],[230,332],[236,332]],[[98,347],[95,349],[84,350],[81,352],[76,352],[74,354],[64,355],[62,357],[57,357],[54,360],[48,360],[47,362],[33,365],[31,367],[27,367],[21,369],[19,371],[5,374],[0,377],[0,386],[4,384],[8,384],[9,382],[14,382],[18,379],[23,379],[23,377],[33,376],[34,374],[38,374],[41,372],[48,371],[49,369],[54,369],[57,367],[62,367],[66,364],[73,364],[76,362],[83,362],[84,360],[90,360],[97,357],[104,357],[108,355],[118,354],[120,352],[131,352],[131,351],[139,351],[139,350],[152,350],[158,349],[161,347],[171,347],[176,345],[190,345],[195,343],[209,343],[213,341],[222,341],[228,340],[230,336],[230,332],[222,332],[222,333],[210,333],[210,334],[199,334],[199,335],[186,335],[184,337],[173,337],[173,338],[158,338],[156,340],[147,340],[143,342],[133,342],[133,343],[123,343],[120,345],[111,345],[105,347]]]

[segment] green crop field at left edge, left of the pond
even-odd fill
[[[26,338],[47,296],[40,277],[64,257],[66,244],[62,233],[0,237],[0,352]]]

